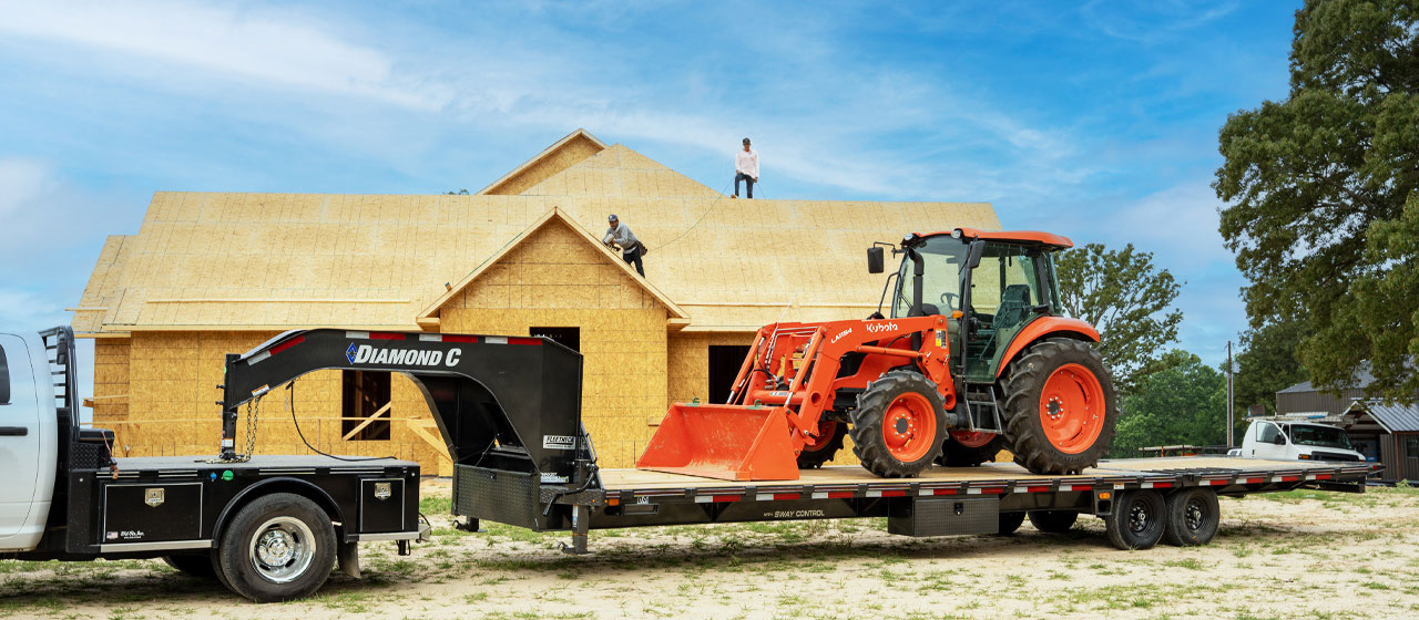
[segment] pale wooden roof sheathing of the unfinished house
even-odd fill
[[[871,313],[874,241],[1000,228],[986,202],[729,200],[623,146],[582,163],[529,188],[563,194],[156,193],[139,232],[105,243],[74,324],[89,335],[412,330],[446,283],[556,209],[592,236],[612,212],[630,225],[650,248],[646,282],[688,314],[687,331],[751,331]],[[643,174],[657,167],[670,176]]]

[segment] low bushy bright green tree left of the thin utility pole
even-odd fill
[[[1148,446],[1219,446],[1226,442],[1226,378],[1182,350],[1159,358],[1162,369],[1124,398],[1111,457],[1138,456]]]

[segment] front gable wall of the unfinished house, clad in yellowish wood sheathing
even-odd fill
[[[602,467],[630,467],[666,413],[667,310],[604,253],[549,221],[440,307],[440,331],[580,330],[582,420]]]

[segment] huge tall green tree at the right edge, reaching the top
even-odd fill
[[[1307,1],[1286,101],[1232,115],[1213,188],[1250,280],[1253,328],[1300,326],[1297,358],[1330,389],[1372,364],[1378,391],[1419,374],[1419,3]]]

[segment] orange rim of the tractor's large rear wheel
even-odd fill
[[[1104,430],[1104,386],[1078,364],[1064,364],[1044,379],[1040,391],[1040,426],[1063,453],[1088,450]]]

